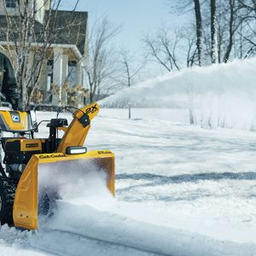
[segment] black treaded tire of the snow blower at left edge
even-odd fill
[[[0,177],[0,223],[14,224],[13,207],[16,184],[8,177]]]

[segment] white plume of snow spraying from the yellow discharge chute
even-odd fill
[[[185,108],[191,124],[256,130],[256,59],[184,69],[102,100],[102,107]]]

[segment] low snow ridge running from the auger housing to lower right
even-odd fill
[[[231,241],[213,240],[183,230],[136,221],[102,209],[96,210],[88,205],[75,206],[67,202],[60,203],[55,218],[49,222],[49,230],[52,229],[164,255],[249,255],[252,249],[256,249],[253,243],[239,245]]]

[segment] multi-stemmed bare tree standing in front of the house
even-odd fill
[[[5,0],[3,1],[6,6]],[[44,60],[49,59],[51,55],[51,44],[55,42],[55,38],[61,37],[67,26],[72,27],[77,23],[73,12],[78,3],[79,0],[76,0],[73,11],[61,26],[55,24],[61,0],[44,1],[42,6],[38,6],[36,0],[17,1],[18,14],[14,16],[9,15],[5,8],[6,27],[1,28],[1,31],[8,43],[9,55],[16,60],[16,78],[23,108],[29,106],[34,91],[39,87]],[[49,4],[50,8],[40,24],[38,15],[46,4]]]

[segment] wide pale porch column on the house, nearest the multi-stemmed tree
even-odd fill
[[[55,90],[53,91],[52,104],[55,106],[61,105],[61,85],[63,73],[63,49],[54,49],[54,65],[53,65],[53,82]]]

